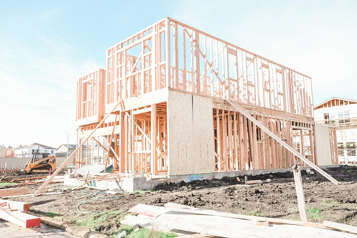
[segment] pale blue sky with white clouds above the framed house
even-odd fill
[[[76,82],[105,51],[172,17],[357,100],[357,1],[0,0],[0,144],[76,142]]]

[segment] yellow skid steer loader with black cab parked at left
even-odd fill
[[[56,157],[50,156],[50,153],[34,153],[31,162],[27,162],[25,168],[17,173],[24,175],[49,172],[50,169],[54,171],[57,166],[56,162]]]

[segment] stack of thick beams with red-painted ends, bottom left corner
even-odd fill
[[[0,200],[1,219],[25,228],[40,226],[41,219],[27,214],[29,209],[30,203]]]

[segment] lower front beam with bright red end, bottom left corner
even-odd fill
[[[35,217],[21,211],[0,210],[0,217],[21,227],[30,228],[41,225],[41,218]]]

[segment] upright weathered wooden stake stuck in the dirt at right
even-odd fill
[[[297,196],[297,202],[299,204],[300,220],[302,222],[307,222],[307,211],[306,211],[304,191],[302,188],[300,166],[298,164],[293,164],[292,171],[294,173],[296,196]]]

